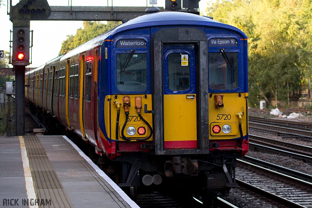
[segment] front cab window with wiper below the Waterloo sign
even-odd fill
[[[120,91],[143,91],[146,87],[147,54],[117,54],[117,88]]]

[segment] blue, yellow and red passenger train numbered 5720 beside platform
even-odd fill
[[[207,201],[248,152],[247,36],[187,12],[146,14],[25,73],[31,112],[79,136],[125,190]]]

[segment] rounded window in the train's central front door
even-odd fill
[[[173,91],[188,90],[191,86],[190,63],[187,66],[181,65],[181,53],[171,53],[167,59],[168,88]]]

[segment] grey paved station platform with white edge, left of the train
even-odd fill
[[[63,136],[0,137],[0,207],[139,208]]]

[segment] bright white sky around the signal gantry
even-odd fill
[[[7,0],[0,8],[0,50],[10,51],[10,30],[12,22],[7,15]],[[9,1],[10,2],[10,1]],[[12,0],[16,5],[19,0]],[[48,0],[50,6],[138,6],[146,7],[149,0]],[[204,11],[209,0],[199,2],[199,11]],[[165,0],[157,0],[157,7],[164,7]],[[148,6],[152,6],[149,5]],[[77,29],[83,28],[82,21],[30,21],[30,30],[33,30],[32,64],[28,67],[38,67],[58,56],[62,42],[67,35],[75,35]],[[11,52],[12,54],[12,52]],[[10,65],[12,67],[12,65]]]

